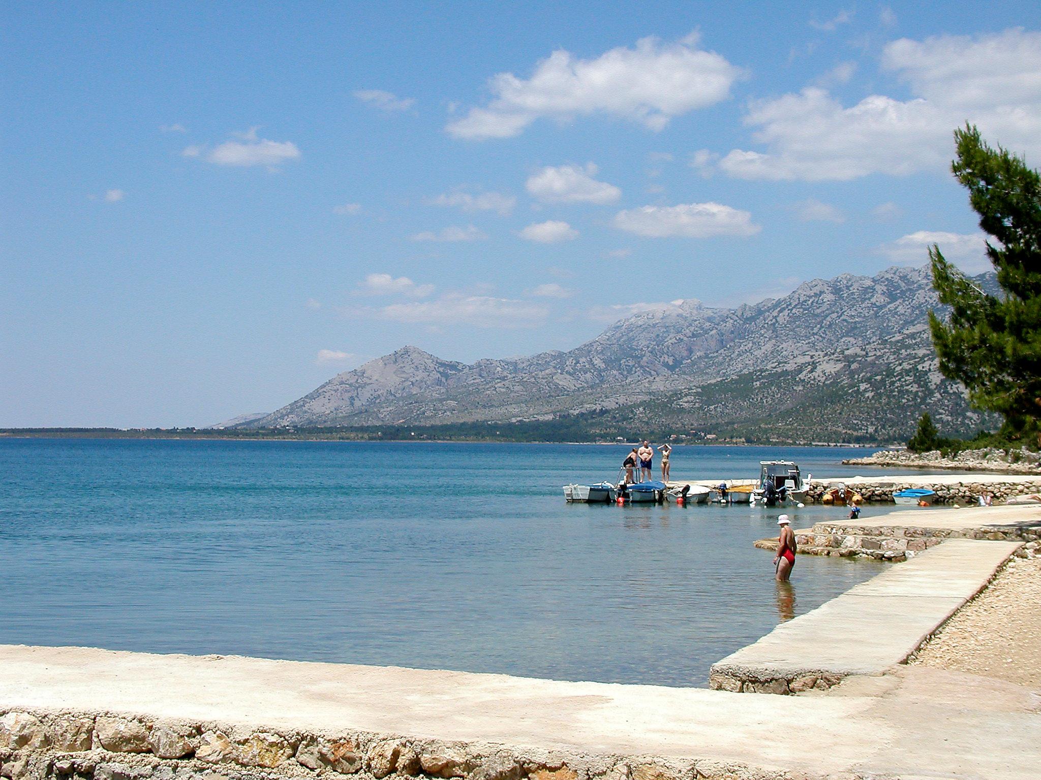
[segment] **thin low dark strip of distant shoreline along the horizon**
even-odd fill
[[[415,437],[386,437],[356,433],[324,433],[324,432],[258,432],[229,435],[226,431],[217,430],[163,430],[149,428],[115,430],[115,428],[0,428],[0,439],[119,439],[119,440],[156,440],[156,441],[327,441],[327,442],[412,442],[423,444],[582,444],[591,446],[629,446],[638,444],[639,440],[631,441],[557,441],[529,440],[511,437],[452,439],[432,438],[421,435]],[[664,439],[655,438],[656,441]],[[672,446],[686,447],[834,447],[847,449],[872,449],[885,447],[881,443],[852,442],[738,442],[738,441],[672,441]],[[891,446],[891,445],[888,445]]]

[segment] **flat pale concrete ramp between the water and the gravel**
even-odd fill
[[[709,684],[788,694],[828,688],[848,675],[880,674],[917,650],[1017,547],[947,540],[728,655],[712,666]]]

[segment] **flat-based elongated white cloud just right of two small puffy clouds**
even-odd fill
[[[719,203],[681,203],[678,206],[642,206],[619,211],[612,225],[641,236],[709,238],[751,236],[761,228],[747,211]]]

